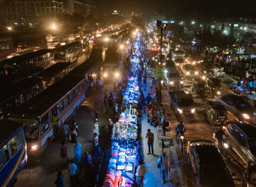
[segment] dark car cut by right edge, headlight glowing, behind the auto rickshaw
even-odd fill
[[[256,110],[242,96],[229,93],[217,97],[217,101],[221,102],[238,121],[245,121],[256,126]]]

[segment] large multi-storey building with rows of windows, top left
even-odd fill
[[[96,7],[92,0],[3,0],[4,15],[1,20],[7,26],[50,24],[64,14],[79,14],[86,18]],[[94,8],[95,7],[95,8]]]

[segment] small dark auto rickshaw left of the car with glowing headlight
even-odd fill
[[[215,126],[225,126],[228,123],[227,110],[220,102],[206,103],[206,118]]]

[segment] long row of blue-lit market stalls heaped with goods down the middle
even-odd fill
[[[135,170],[139,165],[140,143],[138,142],[138,102],[140,89],[137,70],[140,66],[141,48],[139,39],[133,45],[134,53],[130,58],[130,76],[127,88],[123,93],[122,108],[118,121],[113,124],[111,135],[111,157],[108,163],[108,172],[103,186],[129,187],[135,183]]]

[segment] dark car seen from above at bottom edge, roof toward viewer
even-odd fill
[[[210,140],[188,142],[189,186],[235,186],[219,150]]]

